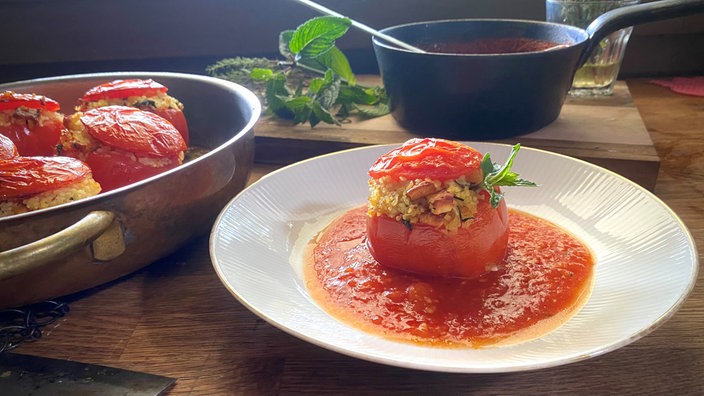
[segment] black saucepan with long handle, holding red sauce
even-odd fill
[[[391,110],[423,135],[499,139],[538,130],[560,114],[574,73],[595,45],[621,28],[704,11],[704,0],[664,0],[607,12],[586,30],[539,21],[419,22],[381,32],[410,45],[528,38],[558,46],[502,54],[421,53],[372,39]]]

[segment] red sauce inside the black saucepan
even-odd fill
[[[524,37],[483,38],[468,42],[445,42],[419,46],[422,50],[443,54],[515,54],[546,51],[558,47],[566,47],[566,45]]]

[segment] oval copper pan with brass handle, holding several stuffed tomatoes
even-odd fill
[[[0,308],[85,290],[129,274],[207,232],[242,188],[261,105],[242,86],[179,73],[81,74],[0,84],[53,98],[71,113],[95,85],[151,78],[185,106],[191,145],[207,153],[88,199],[0,218]]]

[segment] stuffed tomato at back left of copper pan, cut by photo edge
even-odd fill
[[[45,96],[6,91],[0,94],[0,134],[20,155],[56,155],[64,129],[59,103]]]

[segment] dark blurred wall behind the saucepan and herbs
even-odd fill
[[[544,0],[321,0],[370,26],[449,18],[543,20]],[[0,82],[98,71],[180,71],[276,57],[278,33],[318,16],[291,0],[0,0]],[[338,46],[376,73],[370,37]],[[637,26],[621,78],[704,73],[704,14]]]

